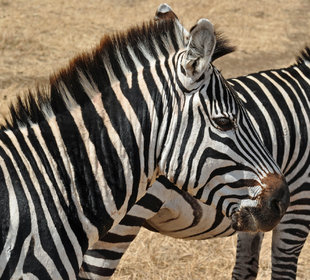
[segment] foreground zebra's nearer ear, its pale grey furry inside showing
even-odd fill
[[[186,75],[196,81],[208,68],[215,49],[216,38],[212,23],[200,19],[191,29],[189,43],[183,60]]]

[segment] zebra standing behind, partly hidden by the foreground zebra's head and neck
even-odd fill
[[[298,256],[310,228],[310,48],[296,64],[228,79],[238,92],[264,144],[287,178],[291,204],[273,230],[272,279],[296,279]],[[117,228],[86,252],[81,279],[109,279],[142,226],[186,240],[236,233],[230,220],[211,204],[179,190],[163,176]],[[156,191],[155,191],[156,189]],[[162,189],[161,191],[159,191]],[[166,192],[166,194],[165,194]],[[149,203],[149,201],[154,203]],[[150,208],[149,205],[156,205]],[[238,232],[232,279],[256,279],[264,233]]]

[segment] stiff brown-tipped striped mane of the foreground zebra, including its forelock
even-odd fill
[[[212,60],[234,50],[220,34],[216,37],[217,44]],[[144,57],[141,47],[148,51],[149,56],[156,59],[154,42],[165,56],[184,47],[184,34],[176,20],[150,21],[126,32],[103,37],[95,49],[78,55],[70,61],[67,67],[50,76],[47,86],[38,86],[35,91],[29,90],[27,94],[18,96],[17,100],[11,104],[10,114],[6,117],[6,123],[1,129],[14,129],[39,123],[46,119],[46,111],[52,112],[55,116],[65,112],[68,99],[60,90],[63,85],[76,104],[80,106],[87,104],[90,98],[81,85],[81,73],[94,82],[101,93],[104,93],[111,83],[106,61],[108,60],[113,68],[114,76],[121,79],[124,73],[120,67],[120,57],[128,71],[135,68],[128,47],[133,50],[143,66],[148,66],[148,60]]]

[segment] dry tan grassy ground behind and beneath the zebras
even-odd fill
[[[109,32],[151,19],[157,0],[0,0],[0,113],[20,92],[95,46]],[[287,66],[310,44],[307,0],[170,1],[190,28],[209,18],[237,51],[217,62],[225,77]],[[236,238],[182,241],[143,230],[113,277],[118,279],[229,279]],[[308,242],[309,243],[309,242]],[[270,234],[261,253],[259,279],[270,278]],[[302,252],[298,279],[310,279],[310,247]]]

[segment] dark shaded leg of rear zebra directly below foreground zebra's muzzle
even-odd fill
[[[232,279],[256,279],[258,272],[259,252],[264,233],[238,233],[236,263]]]

